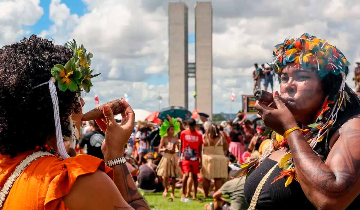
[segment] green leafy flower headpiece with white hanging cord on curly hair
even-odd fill
[[[73,51],[73,57],[65,64],[65,66],[63,66],[62,64],[56,64],[53,68],[51,68],[51,75],[53,77],[51,77],[50,80],[47,82],[34,86],[32,89],[39,88],[40,86],[45,84],[49,84],[51,100],[53,102],[54,108],[54,120],[58,152],[63,158],[68,158],[70,156],[66,152],[61,132],[59,100],[56,94],[57,90],[55,82],[57,83],[58,88],[61,91],[69,90],[72,92],[80,92],[81,89],[84,89],[86,93],[89,93],[90,88],[93,86],[93,84],[91,83],[91,78],[99,76],[100,73],[96,75],[91,75],[91,73],[93,73],[94,71],[90,70],[91,58],[93,57],[93,54],[88,53],[84,48],[84,45],[80,45],[78,47],[76,45],[76,41],[73,40],[73,42],[69,41],[64,46]],[[72,129],[72,137],[75,135],[75,132],[76,131]],[[75,139],[72,138],[72,140],[72,146],[75,147]]]

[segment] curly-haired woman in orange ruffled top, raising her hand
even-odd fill
[[[92,54],[69,44],[32,35],[0,49],[0,209],[149,209],[126,165],[112,162],[122,160],[134,128],[124,100],[121,125],[108,105],[99,121],[112,169],[93,156],[68,155],[82,124],[80,85],[89,91],[96,76]]]

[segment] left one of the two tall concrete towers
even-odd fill
[[[169,3],[169,105],[188,108],[188,6]]]

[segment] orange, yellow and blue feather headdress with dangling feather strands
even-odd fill
[[[315,122],[308,125],[310,130],[302,130],[304,138],[309,143],[310,147],[315,154],[319,155],[316,150],[316,145],[328,138],[328,134],[332,125],[337,121],[338,112],[343,111],[346,107],[346,100],[349,100],[349,96],[345,91],[346,86],[346,68],[349,66],[349,62],[345,56],[340,52],[336,46],[328,44],[328,41],[316,38],[316,36],[310,36],[309,33],[304,33],[300,38],[288,38],[285,39],[282,44],[275,45],[273,52],[274,61],[269,63],[270,66],[277,70],[278,73],[283,72],[283,68],[288,63],[294,63],[296,69],[311,68],[318,71],[319,76],[323,79],[329,73],[339,75],[341,85],[338,93],[334,98],[327,96],[316,115]],[[341,79],[340,79],[341,78]],[[323,114],[327,112],[327,117],[323,118]],[[277,150],[284,140],[280,134],[274,135],[274,140],[265,149],[262,155],[256,159],[252,159],[247,163],[240,164],[240,169],[237,175],[251,173],[262,161],[265,160],[271,153]],[[289,150],[286,155],[278,163],[279,167],[283,168],[281,175],[278,175],[276,180],[283,177],[287,177],[285,187],[296,180],[295,165],[292,161],[292,154]]]

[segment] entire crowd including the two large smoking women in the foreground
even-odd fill
[[[80,93],[98,76],[84,45],[31,35],[4,46],[0,209],[149,210],[139,189],[174,201],[175,188],[185,203],[212,196],[205,209],[358,209],[360,99],[346,83],[350,63],[309,33],[273,55],[270,68],[256,64],[253,73],[254,89],[274,74],[280,81],[272,98],[256,101],[260,117],[240,111],[213,124],[201,113],[134,125],[124,99],[121,111],[104,104],[83,122]]]

